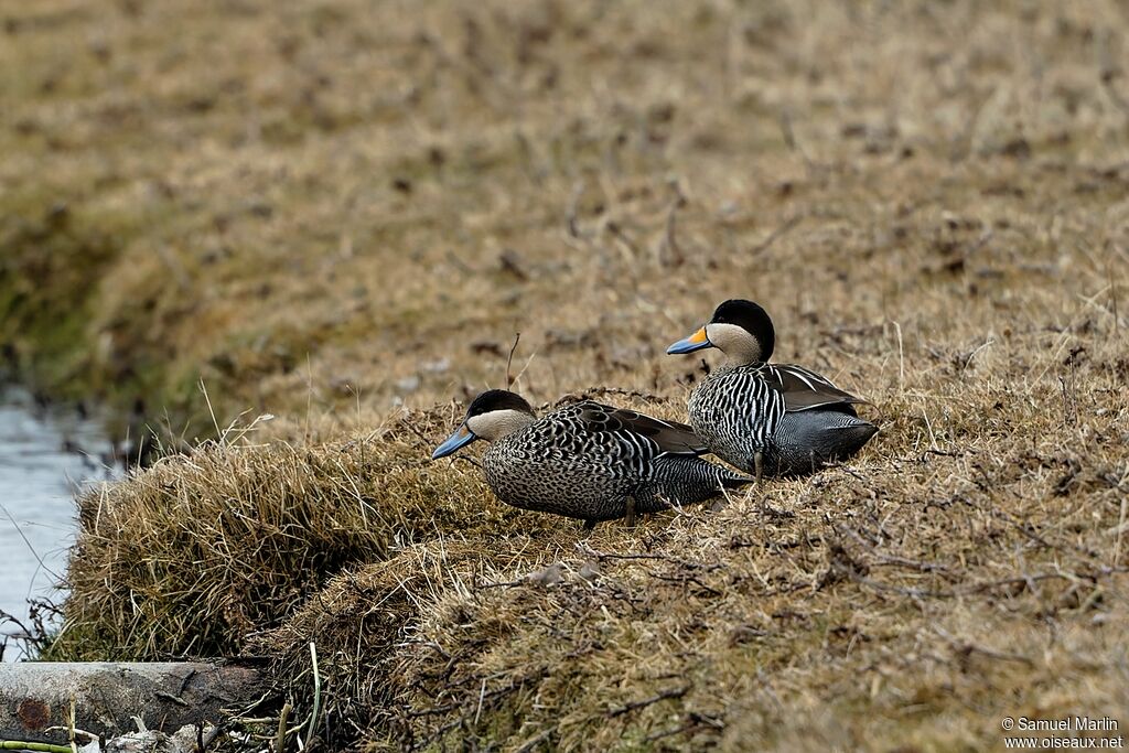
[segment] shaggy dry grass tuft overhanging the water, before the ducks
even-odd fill
[[[481,509],[474,473],[422,452],[413,431],[447,423],[417,411],[321,447],[210,444],[90,492],[52,655],[229,655],[348,564],[505,525],[515,513]]]

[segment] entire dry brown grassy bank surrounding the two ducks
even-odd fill
[[[315,640],[374,747],[1126,708],[1115,3],[2,16],[0,334],[189,437],[242,414],[84,500],[55,656],[265,654],[301,715]],[[873,401],[856,463],[584,537],[427,461],[516,332],[533,402],[683,415],[663,350],[729,296]]]

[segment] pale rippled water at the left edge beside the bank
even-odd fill
[[[17,388],[0,387],[0,610],[32,628],[28,599],[62,601],[56,588],[75,541],[82,484],[117,475],[108,469],[102,424],[69,410],[43,409]],[[5,634],[18,632],[10,622]],[[8,641],[3,658],[19,658]]]

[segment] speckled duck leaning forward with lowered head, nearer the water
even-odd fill
[[[699,457],[706,445],[684,423],[584,401],[537,418],[520,395],[484,392],[431,454],[475,439],[490,447],[482,469],[508,505],[597,522],[700,502],[752,481]]]

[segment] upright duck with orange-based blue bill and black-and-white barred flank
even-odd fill
[[[710,452],[760,481],[802,475],[852,456],[878,430],[858,417],[865,400],[791,364],[769,364],[776,331],[751,300],[727,300],[667,353],[718,348],[727,361],[690,394],[690,424]]]

